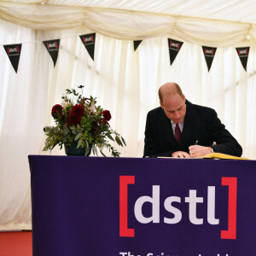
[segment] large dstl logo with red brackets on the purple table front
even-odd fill
[[[222,177],[222,186],[229,188],[228,205],[228,230],[221,230],[221,239],[236,239],[236,198],[237,198],[237,177]],[[119,177],[119,236],[135,236],[135,230],[128,228],[128,185],[135,184],[135,176]],[[148,202],[152,206],[152,216],[143,216],[143,204]],[[165,224],[177,224],[183,218],[182,212],[172,206],[172,202],[181,203],[181,197],[169,196],[164,201],[164,208],[173,214],[173,218],[160,219],[160,186],[152,186],[152,196],[143,195],[137,199],[134,205],[134,214],[141,224],[164,222]],[[191,224],[203,224],[203,218],[196,217],[196,206],[203,203],[204,198],[196,195],[196,189],[189,189],[189,196],[185,197],[185,203],[189,207],[189,221]],[[207,222],[208,224],[219,224],[215,218],[215,186],[207,187]]]

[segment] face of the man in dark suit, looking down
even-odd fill
[[[183,122],[186,114],[185,96],[174,94],[173,96],[163,96],[163,102],[160,102],[168,119],[175,123]]]

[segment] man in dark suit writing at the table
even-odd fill
[[[212,108],[190,103],[175,83],[160,87],[160,107],[148,112],[144,156],[241,156],[242,148]],[[216,143],[213,145],[213,143]]]

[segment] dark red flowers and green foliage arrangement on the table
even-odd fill
[[[110,128],[108,121],[111,113],[96,106],[96,98],[83,97],[83,87],[79,86],[82,94],[67,89],[66,95],[61,97],[63,102],[53,106],[51,115],[55,126],[44,127],[47,138],[43,150],[52,150],[57,144],[62,148],[63,144],[71,146],[77,143],[77,148],[86,148],[85,154],[91,148],[93,154],[98,155],[99,148],[101,154],[106,156],[102,149],[108,148],[113,156],[119,156],[120,153],[108,143],[108,139],[122,147],[125,140]]]

